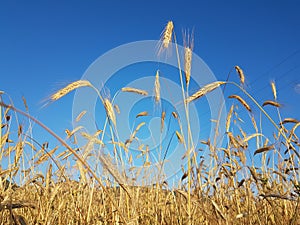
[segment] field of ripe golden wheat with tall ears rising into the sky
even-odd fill
[[[155,185],[136,186],[116,166],[116,163],[122,165],[126,160],[129,164],[134,161],[130,145],[138,140],[139,130],[145,123],[139,124],[127,140],[120,140],[115,129],[117,113],[122,113],[122,109],[113,100],[102,97],[88,80],[67,85],[53,94],[50,101],[57,101],[78,88],[94,89],[106,112],[103,129],[95,134],[85,133],[82,127],[76,127],[66,129],[66,137],[60,137],[29,115],[25,99],[25,110],[21,111],[12,102],[5,103],[5,93],[1,92],[0,224],[300,224],[300,142],[297,136],[300,122],[294,118],[281,118],[275,82],[271,82],[270,86],[273,99],[260,105],[245,89],[245,76],[239,66],[233,68],[239,82],[228,79],[216,81],[188,95],[194,46],[193,35],[185,36],[183,69],[172,21],[162,33],[158,51],[163,54],[170,43],[175,44],[182,104],[187,118],[182,121],[175,111],[162,110],[161,113],[161,130],[164,129],[167,113],[177,120],[180,129],[175,134],[188,159],[178,186],[169,186],[159,178]],[[235,86],[242,94],[228,96],[232,105],[227,113],[225,134],[218,132],[219,120],[211,118],[211,123],[216,124],[215,136],[224,135],[227,142],[217,147],[216,139],[202,140],[209,154],[208,158],[200,158],[198,162],[198,143],[193,143],[192,139],[189,104],[217,88],[223,87],[225,95],[225,86],[229,85]],[[153,87],[154,100],[159,103],[159,71]],[[121,91],[124,94],[148,95],[147,91],[133,87],[124,87]],[[269,112],[277,113],[278,118],[272,118],[265,106]],[[258,119],[253,107],[261,113]],[[246,112],[243,115],[249,117],[250,123],[243,123],[241,111]],[[76,121],[86,113],[81,112]],[[148,112],[141,111],[137,115],[143,116],[148,116]],[[20,118],[27,122],[20,122]],[[263,120],[271,124],[273,137],[263,133],[260,125]],[[41,144],[32,135],[33,124],[39,125],[59,144],[52,149],[49,149],[48,143]],[[187,124],[186,133],[183,132],[183,124]],[[255,132],[247,134],[246,127]],[[105,143],[107,133],[110,143]],[[87,144],[73,147],[76,146],[75,134],[84,137]],[[101,150],[107,145],[113,146],[111,154],[93,151],[95,146]],[[128,157],[117,156],[117,150]],[[147,155],[147,146],[141,145],[140,150]],[[97,158],[99,165],[96,167],[101,166],[106,171],[106,178],[97,173],[95,165],[91,167],[89,157]],[[72,168],[70,158],[75,161]],[[260,161],[259,166],[256,166],[257,161]],[[150,165],[151,160],[145,157],[143,167]],[[80,173],[80,181],[71,179],[70,170],[74,167]],[[138,171],[135,172],[138,174]],[[163,171],[160,172],[162,175]]]

